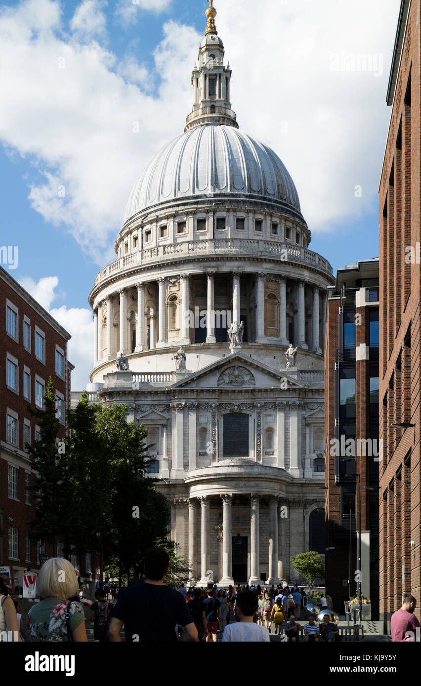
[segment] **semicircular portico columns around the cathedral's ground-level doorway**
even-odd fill
[[[264,525],[260,522],[263,501]],[[233,521],[233,504],[239,502],[241,506],[238,510],[241,512]],[[220,511],[217,525],[210,516],[211,503],[213,512]],[[279,495],[262,496],[259,493],[174,498],[171,505],[172,536],[177,535],[177,512],[185,519],[186,509],[188,533],[185,547],[192,569],[190,583],[202,587],[210,581],[218,581],[220,586],[227,587],[246,581],[277,584],[287,578],[290,572],[291,513],[286,499]],[[215,531],[216,536],[212,536]],[[263,532],[265,536],[260,540]],[[263,568],[266,573],[262,573]]]

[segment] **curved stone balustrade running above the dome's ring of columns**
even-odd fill
[[[196,255],[218,255],[240,252],[244,257],[247,255],[269,255],[279,257],[281,261],[292,261],[312,265],[315,268],[332,274],[332,266],[324,257],[312,252],[307,248],[293,246],[275,241],[225,238],[203,239],[201,241],[183,241],[157,248],[137,250],[130,255],[120,257],[102,269],[95,279],[95,286],[112,276],[116,272],[124,272],[135,265],[153,265],[165,261],[167,256],[179,255],[180,257],[196,257]]]

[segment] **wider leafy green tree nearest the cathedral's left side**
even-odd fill
[[[69,413],[80,554],[98,551],[100,570],[117,558],[119,571],[140,565],[155,537],[165,536],[166,498],[146,476],[146,430],[126,421],[125,405],[89,405],[84,392]]]

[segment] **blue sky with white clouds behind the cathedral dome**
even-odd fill
[[[399,0],[214,5],[240,128],[273,147],[293,176],[310,248],[334,270],[375,257]],[[0,244],[18,246],[10,273],[72,333],[75,390],[91,368],[87,297],[115,259],[130,189],[190,112],[206,7],[204,0],[1,5]]]

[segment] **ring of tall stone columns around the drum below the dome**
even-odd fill
[[[244,342],[292,342],[320,354],[325,314],[326,289],[303,279],[236,271],[159,277],[120,287],[98,300],[93,309],[94,365],[120,353],[215,343],[221,330],[226,340],[231,321],[243,319],[248,319]],[[198,332],[199,318],[201,327],[205,322],[203,333]]]

